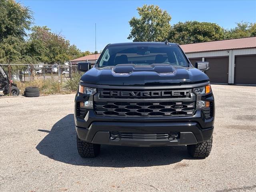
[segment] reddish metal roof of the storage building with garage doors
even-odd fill
[[[256,37],[180,45],[185,53],[256,48]]]

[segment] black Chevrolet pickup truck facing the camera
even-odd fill
[[[100,145],[187,146],[194,158],[212,148],[214,96],[208,62],[192,66],[178,44],[108,44],[85,72],[74,102],[77,149],[96,157]]]

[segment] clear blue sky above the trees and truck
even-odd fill
[[[128,21],[138,16],[136,8],[155,4],[172,16],[170,24],[197,20],[233,28],[236,22],[256,22],[256,1],[19,1],[34,12],[34,23],[61,32],[82,51],[97,50],[108,43],[129,42]]]

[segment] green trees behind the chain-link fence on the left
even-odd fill
[[[0,10],[0,63],[64,64],[98,53],[82,52],[47,26],[32,26],[33,12],[15,0],[0,0]]]

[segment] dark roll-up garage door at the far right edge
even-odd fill
[[[235,57],[235,84],[256,85],[256,55]]]

